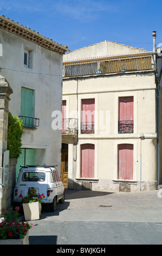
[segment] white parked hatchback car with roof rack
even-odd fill
[[[22,198],[34,188],[36,193],[44,195],[41,203],[50,204],[50,210],[56,210],[56,202],[64,203],[64,186],[59,180],[55,166],[25,166],[20,169],[14,188],[13,204],[21,204]]]

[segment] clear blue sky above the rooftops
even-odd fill
[[[152,50],[162,43],[161,1],[1,0],[0,14],[73,51],[105,40]]]

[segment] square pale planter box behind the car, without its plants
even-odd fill
[[[39,220],[41,215],[41,203],[27,203],[23,204],[25,221]]]

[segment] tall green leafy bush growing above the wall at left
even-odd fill
[[[10,150],[10,158],[16,158],[21,154],[22,146],[21,137],[23,133],[23,124],[17,117],[13,117],[9,112],[8,115],[8,150]]]

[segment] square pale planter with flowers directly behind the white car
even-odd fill
[[[28,191],[28,195],[22,199],[25,221],[40,219],[43,198],[44,194],[36,194],[34,189]]]

